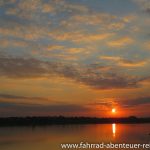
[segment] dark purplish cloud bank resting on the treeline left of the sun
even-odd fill
[[[14,102],[0,102],[1,116],[31,116],[31,115],[71,115],[72,113],[88,112],[89,108],[82,105],[31,105]]]

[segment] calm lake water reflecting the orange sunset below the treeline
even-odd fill
[[[0,128],[0,150],[61,150],[61,143],[150,143],[150,124]]]

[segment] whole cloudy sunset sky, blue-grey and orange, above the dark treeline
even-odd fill
[[[0,117],[149,108],[149,0],[0,0]]]

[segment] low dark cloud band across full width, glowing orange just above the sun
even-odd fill
[[[4,98],[5,101],[1,101],[1,98]],[[13,101],[6,101],[6,99],[9,98],[13,98]],[[100,106],[100,111],[103,110],[102,106],[110,108],[114,106],[114,104],[119,105],[119,107],[123,108],[134,108],[143,104],[150,104],[150,97],[141,97],[135,99],[118,99],[115,101],[101,99],[99,101],[96,101],[95,103],[89,103],[86,105],[68,103],[31,104],[26,103],[26,101],[14,101],[14,99],[18,98],[26,98],[26,100],[32,99],[32,97],[0,94],[0,116],[73,115],[77,113],[80,113],[82,115],[84,113],[88,114],[90,111],[93,111],[93,108],[95,108],[95,106]]]

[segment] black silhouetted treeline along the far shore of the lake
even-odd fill
[[[0,126],[46,126],[65,124],[150,123],[150,118],[92,118],[92,117],[8,117],[0,118]]]

